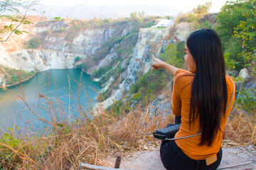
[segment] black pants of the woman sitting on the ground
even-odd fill
[[[175,118],[175,124],[180,123],[181,117]],[[217,154],[217,161],[206,165],[206,160],[194,160],[186,156],[174,140],[161,142],[160,157],[167,170],[171,169],[217,169],[222,158],[222,149]]]

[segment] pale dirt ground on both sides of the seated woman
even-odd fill
[[[115,157],[107,157],[103,162],[114,167]],[[246,164],[241,166],[241,164]],[[240,166],[237,166],[240,165]],[[235,166],[230,167],[228,166]],[[159,157],[159,146],[147,147],[122,157],[120,169],[164,170]],[[256,147],[253,145],[223,145],[223,158],[218,169],[256,169]]]

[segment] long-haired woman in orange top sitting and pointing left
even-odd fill
[[[167,69],[175,76],[172,113],[181,115],[175,138],[201,134],[162,142],[161,161],[166,169],[217,169],[223,130],[235,99],[234,82],[225,75],[222,45],[214,30],[191,33],[185,48],[188,71],[154,56],[152,67]]]

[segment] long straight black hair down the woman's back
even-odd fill
[[[212,29],[191,33],[186,45],[196,62],[189,123],[191,125],[200,116],[202,137],[199,145],[210,146],[220,130],[228,98],[223,49],[218,34]]]

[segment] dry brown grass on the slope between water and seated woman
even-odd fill
[[[9,131],[11,137],[2,136],[0,169],[78,169],[80,162],[100,164],[100,158],[109,153],[125,152],[122,143],[139,147],[139,140],[163,128],[173,118],[166,118],[163,114],[150,115],[140,107],[112,116],[102,108],[85,111],[78,101],[79,115],[70,122],[65,116],[68,111],[58,101],[58,96],[53,102],[41,95],[41,102],[46,103],[44,112],[50,117],[47,120],[27,103],[24,96],[18,97],[27,104],[28,111],[48,127],[40,132],[31,130],[33,127],[22,129],[22,134],[14,129]]]

